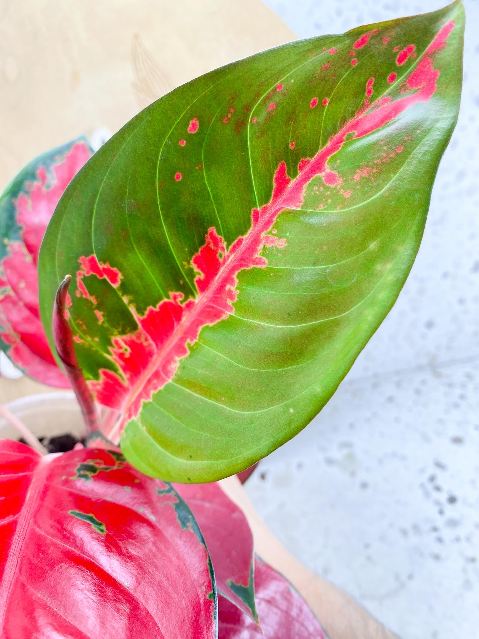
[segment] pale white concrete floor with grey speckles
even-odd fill
[[[307,37],[442,3],[266,4]],[[479,634],[479,3],[464,4],[459,123],[409,280],[321,415],[248,484],[296,556],[404,639]]]

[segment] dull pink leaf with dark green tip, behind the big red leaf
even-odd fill
[[[220,485],[173,484],[193,512],[208,546],[218,595],[257,620],[253,535],[243,511]]]

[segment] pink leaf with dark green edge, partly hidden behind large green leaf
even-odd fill
[[[61,388],[69,384],[40,320],[38,253],[60,197],[90,156],[84,140],[49,151],[25,167],[0,197],[0,348],[30,377]]]

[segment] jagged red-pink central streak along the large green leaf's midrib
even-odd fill
[[[448,33],[451,30],[452,27]],[[437,40],[434,50],[441,49],[447,35]],[[138,328],[132,334],[113,337],[109,349],[110,358],[118,366],[119,373],[103,369],[99,380],[89,382],[100,403],[123,412],[123,421],[112,435],[115,439],[118,439],[126,422],[138,415],[142,403],[149,401],[155,392],[172,380],[180,360],[188,355],[201,329],[234,314],[238,274],[268,265],[262,255],[265,246],[281,249],[285,245],[284,240],[277,238],[272,231],[278,215],[285,210],[300,209],[307,185],[317,176],[321,176],[328,186],[342,185],[338,174],[328,167],[328,161],[342,148],[346,139],[368,135],[393,121],[406,109],[430,100],[439,77],[439,71],[433,66],[433,54],[426,54],[407,77],[407,95],[401,94],[395,99],[391,96],[378,98],[367,111],[359,111],[314,157],[301,160],[296,177],[288,173],[285,161],[280,162],[273,176],[270,201],[252,210],[251,226],[245,235],[239,236],[228,247],[215,227],[208,229],[204,244],[191,260],[196,273],[196,296],[185,300],[182,293],[172,292],[169,298],[149,307],[142,316],[133,305],[130,306]],[[370,173],[367,168],[360,171],[354,180]],[[346,190],[343,195],[349,197],[351,191]]]

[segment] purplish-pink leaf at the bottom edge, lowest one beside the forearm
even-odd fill
[[[259,557],[255,558],[254,586],[262,632],[230,601],[218,597],[219,639],[327,639],[291,583]]]

